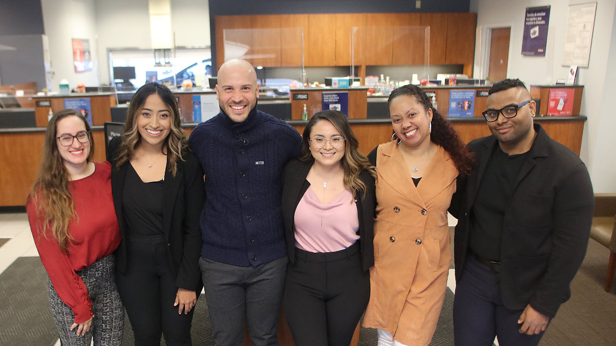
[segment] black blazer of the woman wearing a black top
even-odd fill
[[[120,147],[121,138],[115,137],[109,143],[111,161],[111,192],[115,204],[116,216],[120,223],[122,241],[116,250],[116,269],[126,272],[128,262],[128,243],[130,241],[128,224],[123,216],[122,194],[124,179],[130,163],[116,166],[116,151]],[[164,236],[168,244],[169,263],[176,272],[176,285],[189,291],[201,291],[201,229],[199,217],[205,200],[203,184],[203,169],[191,151],[182,155],[184,161],[177,162],[177,172],[174,177],[170,171],[164,174],[164,206],[163,222]],[[169,164],[169,161],[167,161]]]

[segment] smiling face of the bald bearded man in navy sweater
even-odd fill
[[[244,60],[233,59],[222,64],[218,71],[216,99],[227,116],[235,123],[248,118],[257,104],[259,84],[253,66]]]

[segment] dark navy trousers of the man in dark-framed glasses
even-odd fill
[[[467,257],[453,299],[453,335],[456,346],[488,346],[498,336],[498,344],[537,345],[543,332],[521,334],[517,319],[524,310],[503,305],[498,273]]]

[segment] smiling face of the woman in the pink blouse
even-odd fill
[[[315,162],[321,164],[323,166],[333,166],[335,164],[340,164],[340,160],[344,156],[345,149],[345,141],[342,140],[342,146],[340,148],[334,148],[331,145],[332,139],[334,137],[342,137],[340,132],[336,130],[336,127],[333,126],[327,120],[319,120],[317,123],[312,126],[310,130],[310,153],[312,153],[312,157],[315,159]],[[323,143],[318,144],[317,140],[324,140],[325,145]],[[336,139],[334,139],[335,141]],[[315,148],[323,145],[323,148]]]

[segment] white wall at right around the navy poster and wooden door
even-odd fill
[[[509,41],[508,78],[520,78],[530,84],[553,84],[565,79],[569,66],[562,66],[565,23],[570,4],[583,4],[588,0],[472,0],[471,10],[477,10],[477,26],[498,28],[511,26]],[[614,124],[614,112],[604,95],[614,97],[614,79],[611,84],[606,74],[616,73],[614,29],[616,0],[597,0],[593,42],[588,68],[578,68],[578,82],[584,87],[581,115],[588,116],[582,137],[580,157],[588,166],[595,192],[616,192],[616,136],[610,134],[607,123]],[[550,5],[548,44],[545,57],[521,55],[522,31],[526,7]],[[480,64],[480,38],[476,41],[475,66]],[[610,54],[610,51],[612,54]],[[608,63],[608,59],[610,62]],[[611,94],[606,94],[609,91]],[[604,101],[606,100],[606,101]],[[612,107],[613,108],[613,107]],[[609,113],[609,114],[608,114]],[[604,121],[606,123],[604,123]],[[614,127],[611,127],[612,129]]]

